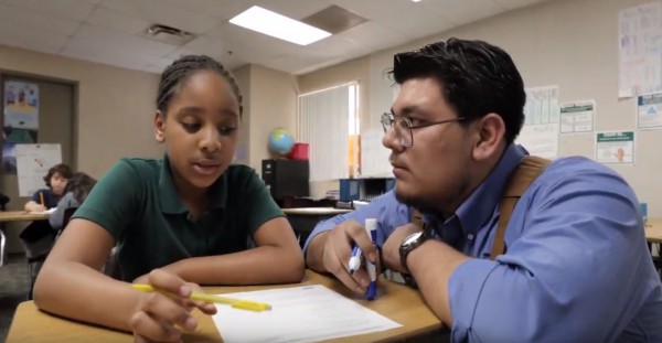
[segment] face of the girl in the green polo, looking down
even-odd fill
[[[232,162],[239,104],[225,78],[212,71],[195,72],[178,87],[168,112],[157,112],[156,138],[167,144],[178,187],[205,189]]]

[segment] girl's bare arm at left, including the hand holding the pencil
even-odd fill
[[[35,304],[46,312],[140,332],[141,336],[156,341],[177,341],[181,334],[173,324],[194,330],[196,320],[190,314],[193,307],[203,313],[215,313],[213,304],[185,299],[195,285],[164,270],[150,272],[147,282],[179,294],[177,299],[159,292],[136,291],[128,283],[99,272],[113,245],[113,237],[99,225],[73,219],[39,274],[34,286]],[[153,318],[159,319],[159,325]]]

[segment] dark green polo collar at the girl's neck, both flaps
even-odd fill
[[[209,189],[210,208],[225,208],[227,202],[227,172],[223,173]],[[163,156],[159,170],[159,202],[163,213],[182,214],[189,212],[189,208],[182,202],[174,180],[172,180],[172,170],[168,154]]]

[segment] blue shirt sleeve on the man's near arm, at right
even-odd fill
[[[532,186],[506,243],[496,260],[451,276],[452,342],[615,342],[644,301],[652,266],[638,202],[606,168]]]

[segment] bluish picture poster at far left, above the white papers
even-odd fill
[[[4,82],[2,172],[15,174],[14,144],[35,143],[39,131],[39,86]]]

